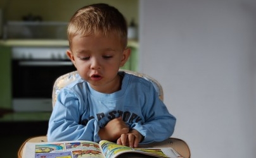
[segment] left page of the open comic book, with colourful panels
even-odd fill
[[[96,157],[104,158],[98,143],[90,141],[68,142],[27,142],[22,157],[26,158],[76,158]]]

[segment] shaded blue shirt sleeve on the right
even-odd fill
[[[132,129],[139,131],[144,136],[141,143],[161,142],[174,133],[176,118],[170,114],[165,104],[158,98],[153,85],[150,86],[150,92],[146,95],[145,102],[141,107],[145,122],[143,125],[134,123]]]

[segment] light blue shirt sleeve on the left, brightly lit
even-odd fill
[[[89,106],[81,106],[84,104],[82,100],[84,100],[82,96],[70,90],[63,88],[60,91],[49,119],[49,142],[68,140],[99,142],[99,126],[96,119],[90,119],[87,125],[79,123],[82,115],[89,113]]]

